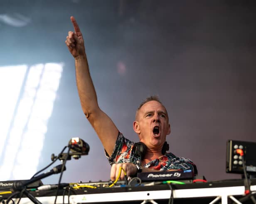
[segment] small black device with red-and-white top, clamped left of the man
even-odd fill
[[[79,137],[72,137],[69,141],[69,147],[72,152],[71,155],[73,155],[73,157],[78,156],[78,158],[80,158],[81,155],[87,155],[90,150],[89,144]]]

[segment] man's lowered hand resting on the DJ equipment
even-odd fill
[[[111,172],[110,172],[110,179],[112,181],[116,180],[118,178],[118,174],[120,171],[120,167],[122,167],[126,171],[126,175],[128,176],[133,176],[135,173],[137,173],[138,169],[133,163],[115,163],[111,167]],[[123,170],[121,170],[121,176],[120,180],[124,180],[125,175]]]

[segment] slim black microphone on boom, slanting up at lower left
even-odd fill
[[[40,180],[42,178],[45,178],[47,176],[50,176],[52,174],[56,174],[56,173],[60,173],[62,170],[62,164],[58,165],[58,166],[55,166],[54,168],[52,168],[52,170],[49,170],[48,172],[46,173],[42,173],[38,176],[35,176],[34,178],[30,179],[29,181],[27,182],[21,182],[21,181],[17,181],[13,184],[12,186],[12,189],[11,191],[12,192],[15,192],[15,191],[21,191],[25,186],[37,181],[37,180]],[[64,166],[64,169],[63,171],[66,170],[66,167]]]

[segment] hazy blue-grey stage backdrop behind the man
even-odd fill
[[[254,1],[9,0],[1,1],[0,13],[31,20],[22,27],[0,22],[0,66],[64,62],[38,170],[71,137],[81,137],[89,155],[68,161],[62,181],[109,179],[110,165],[81,110],[74,59],[64,43],[73,15],[99,105],[126,137],[138,142],[135,110],[158,95],[171,122],[170,151],[192,159],[207,180],[240,178],[225,172],[226,141],[256,142]]]

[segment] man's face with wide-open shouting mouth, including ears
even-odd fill
[[[158,101],[149,101],[138,110],[133,129],[148,149],[161,150],[170,124],[167,111]]]

